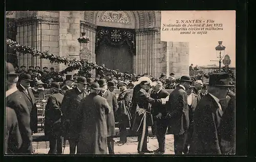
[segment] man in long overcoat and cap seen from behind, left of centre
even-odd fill
[[[90,95],[81,100],[77,154],[108,154],[106,115],[112,108],[98,95],[100,90],[98,83],[92,83]]]

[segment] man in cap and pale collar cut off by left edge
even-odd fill
[[[30,110],[28,105],[22,95],[22,93],[17,89],[16,83],[18,80],[17,73],[14,72],[13,65],[9,62],[6,63],[6,106],[10,108],[6,109],[6,112],[10,115],[6,115],[5,118],[11,118],[11,122],[14,122],[12,119],[17,118],[18,130],[15,127],[12,127],[12,132],[9,132],[9,138],[6,140],[7,145],[6,153],[19,153],[19,154],[32,154],[32,133],[30,129]],[[10,114],[11,111],[15,113]],[[6,119],[6,127],[8,127],[9,119]],[[14,123],[13,123],[14,124]],[[7,133],[7,132],[6,132]],[[7,135],[7,134],[6,134]],[[10,136],[12,135],[12,136]],[[21,142],[20,142],[21,137]],[[9,141],[10,140],[10,141]],[[20,144],[22,144],[20,146]]]

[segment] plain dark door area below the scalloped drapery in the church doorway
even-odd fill
[[[119,70],[119,72],[133,73],[133,56],[129,52],[129,45],[109,45],[104,42],[99,45],[96,53],[96,63],[104,64],[110,70]]]

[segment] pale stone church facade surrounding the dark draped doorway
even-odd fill
[[[161,11],[15,11],[7,17],[15,18],[16,41],[49,51],[54,55],[79,59],[77,38],[86,32],[87,44],[92,53],[89,61],[97,63],[97,27],[134,29],[135,54],[132,56],[132,72],[177,77],[188,75],[189,48],[187,42],[161,41]],[[51,64],[48,60],[31,55],[18,56],[18,65],[54,67],[57,71],[64,64]],[[74,72],[72,72],[74,73]]]

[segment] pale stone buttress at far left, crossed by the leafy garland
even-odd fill
[[[18,43],[34,47],[41,52],[49,51],[58,55],[58,12],[17,11],[15,15]],[[54,67],[58,71],[57,64],[51,64],[47,59],[34,58],[30,54],[19,56],[18,65]]]

